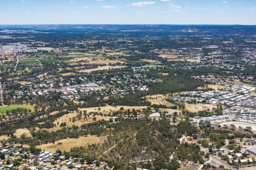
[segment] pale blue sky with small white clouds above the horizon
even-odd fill
[[[256,0],[0,0],[0,24],[256,24]]]

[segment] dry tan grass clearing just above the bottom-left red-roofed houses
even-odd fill
[[[77,139],[68,138],[68,139],[61,139],[60,141],[55,141],[54,144],[47,143],[44,145],[39,145],[37,147],[49,152],[55,152],[56,150],[69,151],[71,150],[72,147],[87,146],[93,143],[100,143],[104,140],[106,140],[106,136],[104,137],[89,136],[89,137],[80,137]]]

